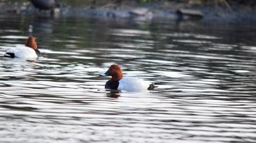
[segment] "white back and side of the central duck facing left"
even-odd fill
[[[118,90],[141,91],[147,90],[149,82],[133,77],[124,77],[119,80]]]

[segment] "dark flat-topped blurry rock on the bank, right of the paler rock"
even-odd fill
[[[180,8],[177,10],[179,20],[200,20],[204,18],[203,13],[200,10],[189,10]]]

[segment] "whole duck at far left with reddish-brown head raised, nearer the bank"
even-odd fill
[[[40,51],[37,48],[37,42],[35,38],[30,36],[27,39],[25,45],[17,45],[16,47],[10,48],[4,55],[9,58],[38,58],[41,56]]]

